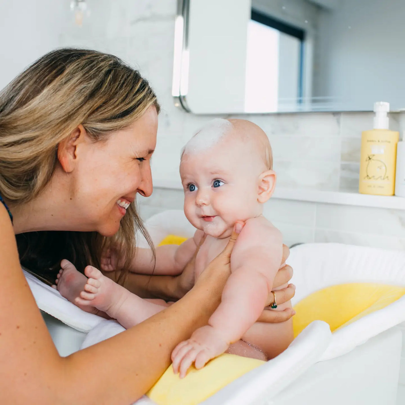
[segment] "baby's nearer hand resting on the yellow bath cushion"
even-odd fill
[[[173,371],[185,377],[187,370],[195,362],[196,369],[201,369],[212,358],[228,349],[224,337],[212,326],[197,329],[190,339],[179,343],[172,353]]]

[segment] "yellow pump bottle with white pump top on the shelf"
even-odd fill
[[[361,134],[361,194],[393,196],[395,190],[396,144],[399,132],[390,131],[388,102],[374,104],[374,129]]]

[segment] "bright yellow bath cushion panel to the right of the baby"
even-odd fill
[[[377,283],[339,284],[315,291],[294,306],[294,337],[314,320],[325,321],[333,332],[386,307],[404,294],[403,287]]]

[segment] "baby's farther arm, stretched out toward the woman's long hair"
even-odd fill
[[[193,238],[187,239],[181,245],[163,245],[156,247],[156,262],[151,249],[138,248],[132,260],[130,271],[139,274],[178,275],[191,260],[203,232],[197,230]],[[111,254],[102,259],[104,271],[115,270]]]

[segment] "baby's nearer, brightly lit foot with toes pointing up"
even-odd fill
[[[89,278],[75,298],[75,304],[96,307],[115,318],[117,307],[121,305],[122,287],[93,266],[87,266],[84,273]]]

